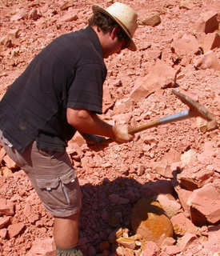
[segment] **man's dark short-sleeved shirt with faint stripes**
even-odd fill
[[[17,150],[63,151],[75,133],[66,107],[102,114],[106,65],[94,30],[64,34],[42,50],[0,102],[0,129]]]

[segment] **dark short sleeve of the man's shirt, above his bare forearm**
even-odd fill
[[[67,107],[102,114],[102,86],[105,79],[106,66],[91,62],[79,66],[70,86]]]

